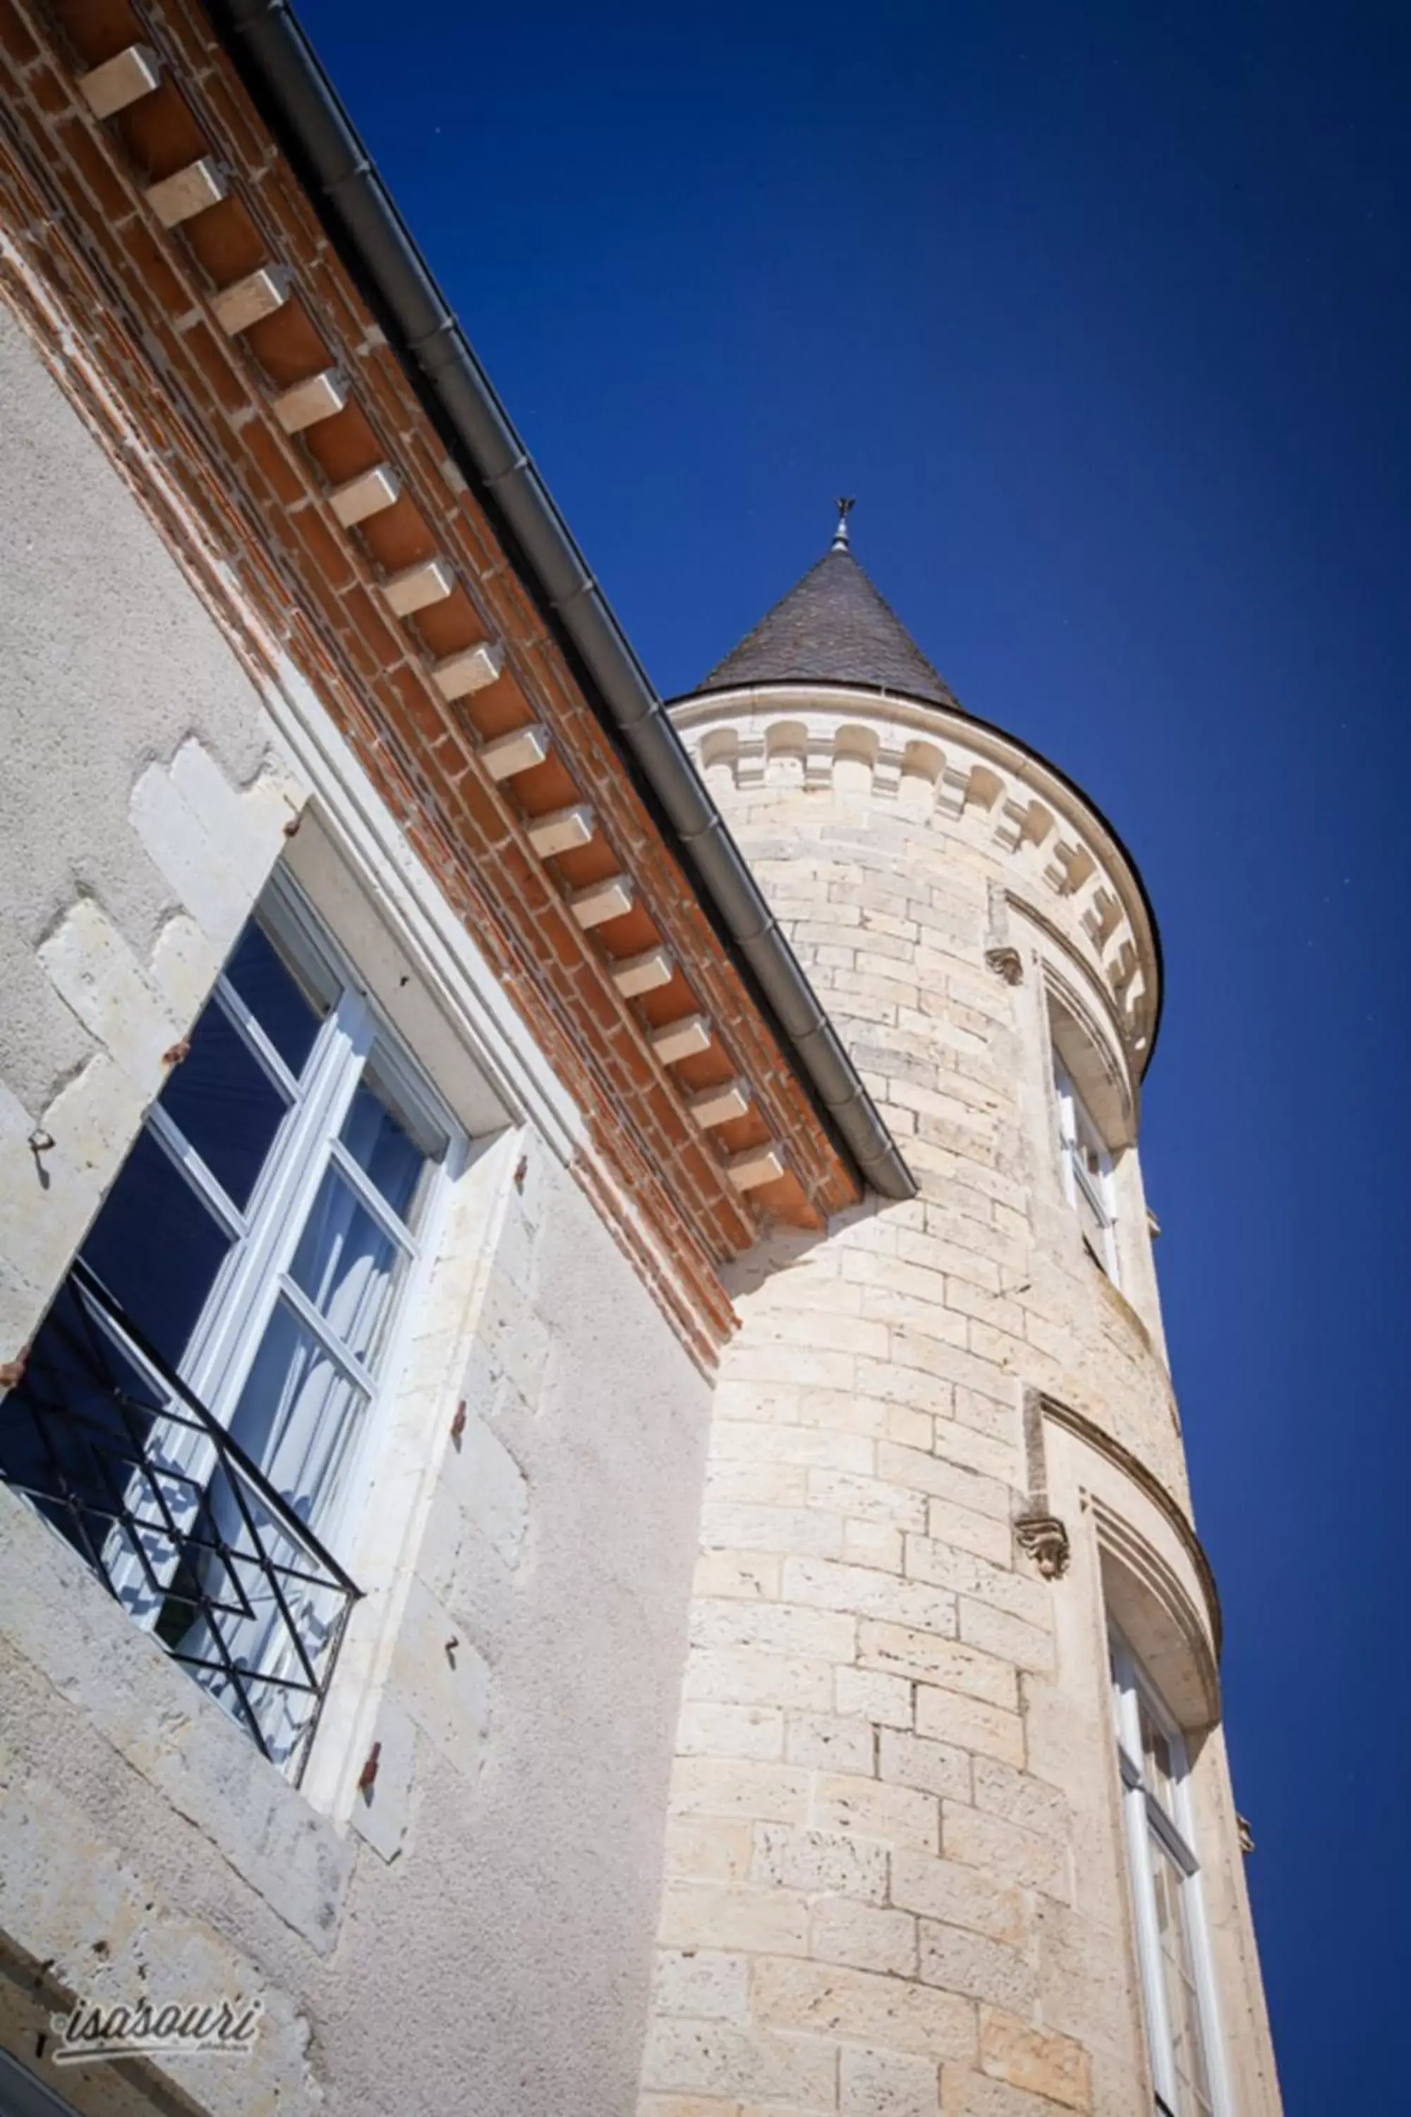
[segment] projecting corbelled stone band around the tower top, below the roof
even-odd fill
[[[1140,1078],[1159,1016],[1155,923],[1125,849],[1060,771],[967,713],[850,684],[700,692],[673,720],[726,815],[831,792],[992,855],[1085,963]]]

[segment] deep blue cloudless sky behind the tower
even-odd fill
[[[1407,2109],[1411,11],[300,13],[658,686],[857,493],[1136,853],[1284,2094]]]

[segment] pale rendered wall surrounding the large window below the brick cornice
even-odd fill
[[[49,2077],[95,2113],[176,2085],[222,2113],[620,2117],[707,1382],[317,701],[256,692],[2,309],[0,398],[0,1359],[279,857],[478,1135],[343,1554],[368,1596],[305,1791],[0,1488],[0,2043],[36,2064],[74,1998],[241,1990],[264,2001],[243,2064]]]

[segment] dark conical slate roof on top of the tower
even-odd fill
[[[867,684],[903,690],[933,705],[956,705],[901,618],[840,540],[711,669],[700,688],[785,682]]]

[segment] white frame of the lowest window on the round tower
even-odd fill
[[[1128,1878],[1132,1884],[1132,1914],[1136,1924],[1136,1954],[1142,1982],[1142,2013],[1147,2022],[1147,2049],[1151,2075],[1157,2092],[1159,2117],[1185,2117],[1180,2106],[1172,2024],[1166,2005],[1166,1973],[1161,1965],[1161,1933],[1157,1922],[1155,1882],[1151,1878],[1151,1842],[1159,1846],[1178,1867],[1180,1910],[1191,1948],[1191,1969],[1195,1982],[1195,2015],[1206,2058],[1212,2117],[1233,2117],[1229,2079],[1221,2045],[1221,2024],[1216,2005],[1214,1958],[1210,1952],[1210,1926],[1199,1878],[1199,1857],[1195,1852],[1195,1812],[1191,1804],[1191,1766],[1187,1744],[1168,1713],[1159,1691],[1147,1677],[1117,1626],[1108,1628],[1113,1668],[1113,1713],[1117,1721],[1117,1770],[1121,1774],[1121,1823],[1128,1852]],[[1142,1706],[1166,1736],[1170,1751],[1170,1810],[1147,1785]]]

